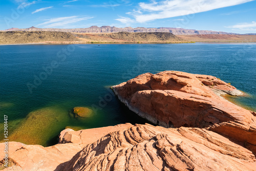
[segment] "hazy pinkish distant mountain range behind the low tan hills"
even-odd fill
[[[71,32],[71,33],[117,33],[117,32],[130,32],[130,33],[141,33],[141,32],[168,32],[175,35],[196,35],[196,34],[237,34],[237,33],[227,33],[222,31],[209,31],[209,30],[193,30],[193,29],[182,29],[182,28],[171,28],[171,27],[160,27],[160,28],[144,28],[144,27],[125,27],[117,28],[111,26],[92,26],[89,28],[80,29],[41,29],[36,27],[30,27],[27,29],[11,28],[2,31],[60,31],[60,32]],[[255,33],[250,33],[250,35],[255,35]]]

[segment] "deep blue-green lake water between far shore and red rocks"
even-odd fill
[[[256,111],[255,54],[256,44],[0,46],[1,117],[8,115],[11,135],[29,113],[52,109],[47,117],[58,118],[54,127],[47,128],[49,138],[42,145],[56,143],[66,126],[144,123],[109,88],[142,73],[164,70],[214,75],[230,82],[249,94],[233,100]],[[91,118],[74,118],[70,113],[75,106],[97,112]]]

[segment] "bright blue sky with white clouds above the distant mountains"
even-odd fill
[[[178,27],[256,33],[255,0],[1,0],[9,28]]]

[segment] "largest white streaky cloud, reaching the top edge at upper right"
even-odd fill
[[[254,0],[165,0],[153,3],[139,3],[140,13],[134,13],[137,22],[144,23],[155,19],[170,18],[218,8],[247,3]]]

